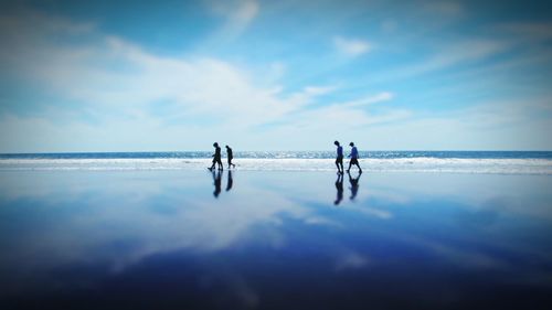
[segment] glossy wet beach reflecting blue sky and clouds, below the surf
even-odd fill
[[[550,175],[217,177],[1,171],[0,309],[552,304]]]

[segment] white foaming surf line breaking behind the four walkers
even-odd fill
[[[238,170],[253,171],[335,171],[332,158],[242,158],[234,162]],[[552,174],[552,158],[437,158],[395,157],[362,158],[367,172]],[[185,157],[3,157],[0,170],[204,170],[211,159]],[[346,160],[347,167],[347,160]]]

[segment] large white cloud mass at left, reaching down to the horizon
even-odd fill
[[[278,137],[279,126],[262,132],[258,126],[286,121],[290,129],[308,125],[331,135],[335,128],[326,125],[336,117],[344,128],[395,117],[370,116],[357,109],[360,103],[390,99],[390,93],[363,98],[357,105],[320,108],[311,104],[335,92],[336,85],[311,85],[284,93],[275,84],[277,81],[258,84],[256,76],[263,73],[252,75],[243,65],[213,57],[156,55],[120,38],[94,31],[81,36],[77,45],[55,44],[47,40],[50,35],[71,33],[56,30],[36,34],[28,20],[15,21],[20,40],[2,46],[0,63],[23,76],[23,81],[46,88],[56,101],[71,104],[63,108],[47,104],[47,113],[33,117],[4,115],[0,124],[3,131],[15,133],[4,137],[2,151],[203,149],[205,140],[219,140],[222,135],[236,140],[242,149],[266,146],[267,137],[274,138],[269,140],[273,148],[289,149],[300,147],[301,141],[282,137],[300,136]],[[49,29],[49,22],[43,18],[35,24]],[[282,75],[282,67],[278,63],[276,68],[268,66],[267,72],[276,70]],[[170,109],[163,111],[163,104]],[[82,115],[93,121],[83,121]],[[301,117],[307,117],[308,124]]]

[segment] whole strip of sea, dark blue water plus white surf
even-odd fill
[[[203,170],[211,164],[211,154],[209,151],[0,154],[0,170]],[[333,151],[237,151],[234,157],[240,170],[335,170]],[[361,151],[360,163],[369,172],[552,174],[551,151]]]

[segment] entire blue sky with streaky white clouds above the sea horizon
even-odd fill
[[[550,1],[1,1],[0,152],[552,150]]]

